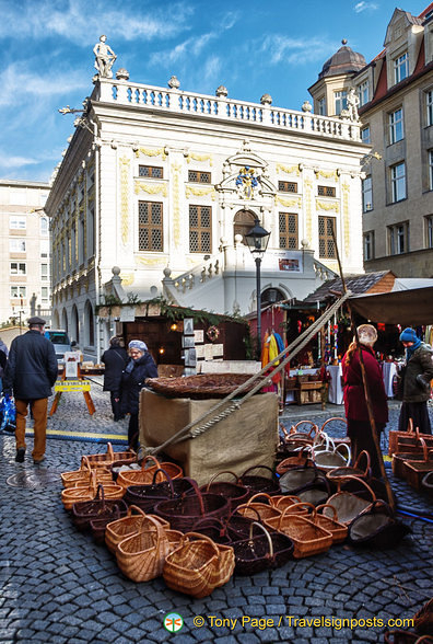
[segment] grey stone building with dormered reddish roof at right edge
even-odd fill
[[[365,271],[433,277],[433,3],[419,16],[396,9],[384,46],[311,92],[318,113],[331,81],[346,100],[351,87],[359,99],[361,137],[373,152],[362,182]]]

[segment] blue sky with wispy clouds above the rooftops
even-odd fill
[[[0,177],[48,181],[91,94],[101,34],[132,82],[300,110],[341,38],[371,60],[396,0],[0,0]],[[419,15],[428,1],[401,0]]]

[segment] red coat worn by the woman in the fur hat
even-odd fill
[[[377,423],[387,423],[388,403],[381,366],[374,357],[372,349],[365,346],[362,346],[361,348],[365,365],[365,375],[368,382],[370,396],[372,399],[374,419]],[[344,355],[342,359],[342,371],[346,417],[353,421],[368,421],[368,411],[365,402],[358,350],[352,355],[352,359],[348,366],[346,365]]]

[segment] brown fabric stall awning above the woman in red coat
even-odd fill
[[[378,295],[351,296],[356,313],[373,322],[419,326],[433,324],[433,286]]]

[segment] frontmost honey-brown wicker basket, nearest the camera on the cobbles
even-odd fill
[[[233,548],[188,532],[179,548],[166,557],[163,576],[168,588],[199,599],[226,584],[234,566]]]

